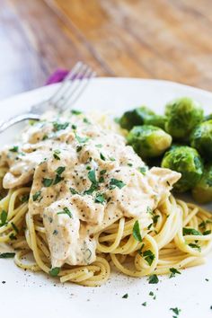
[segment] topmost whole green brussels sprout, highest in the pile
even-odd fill
[[[183,97],[166,105],[165,130],[175,139],[187,139],[190,131],[203,119],[203,110],[197,102]]]

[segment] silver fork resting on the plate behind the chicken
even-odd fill
[[[33,105],[30,110],[13,118],[7,119],[0,124],[0,133],[14,124],[26,119],[40,120],[46,110],[64,111],[71,106],[84,92],[87,84],[95,76],[90,66],[82,62],[75,64],[73,69],[66,75],[62,84],[47,101]]]

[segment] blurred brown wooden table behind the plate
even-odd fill
[[[212,89],[211,0],[0,0],[0,98],[83,60]]]

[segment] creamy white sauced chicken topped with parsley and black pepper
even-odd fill
[[[181,177],[156,167],[143,174],[145,163],[124,137],[84,115],[37,123],[0,155],[9,168],[5,189],[32,182],[29,212],[43,218],[52,267],[95,261],[93,235],[121,216],[148,226],[149,211]]]

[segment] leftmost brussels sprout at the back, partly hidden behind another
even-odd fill
[[[143,125],[147,116],[155,115],[153,110],[149,110],[146,106],[141,106],[135,110],[126,111],[119,119],[121,128],[130,130],[134,126]]]

